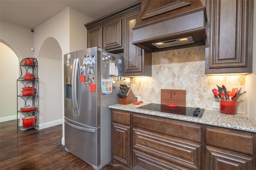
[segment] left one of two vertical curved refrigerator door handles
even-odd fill
[[[76,75],[77,75],[77,59],[74,59],[73,70],[72,70],[72,102],[75,114],[78,114],[77,108],[77,97],[76,97]]]

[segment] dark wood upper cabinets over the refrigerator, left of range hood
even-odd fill
[[[98,46],[110,53],[124,53],[124,76],[151,76],[152,53],[132,44],[133,30],[140,16],[141,4],[86,23],[88,48]]]

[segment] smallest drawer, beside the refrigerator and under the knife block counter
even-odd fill
[[[112,121],[131,125],[131,112],[112,109]]]

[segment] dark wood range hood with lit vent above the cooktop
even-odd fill
[[[142,0],[132,44],[150,52],[205,45],[206,22],[200,0]]]

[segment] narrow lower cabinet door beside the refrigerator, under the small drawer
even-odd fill
[[[131,166],[130,127],[112,123],[112,158],[125,166]]]

